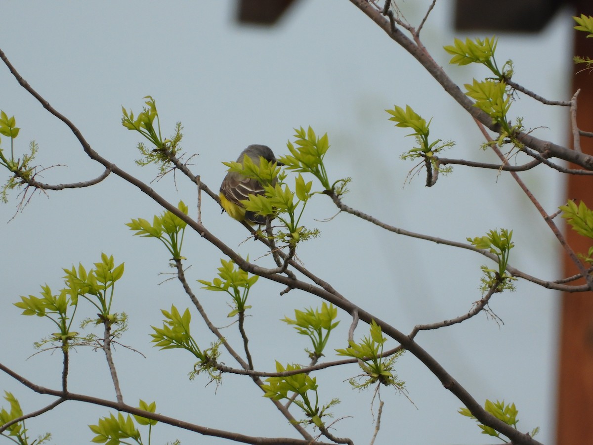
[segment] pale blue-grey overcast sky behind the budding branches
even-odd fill
[[[429,3],[409,1],[401,8],[417,24]],[[436,61],[463,84],[488,74],[480,68],[448,66],[450,56],[442,46],[450,45],[455,36],[474,36],[454,33],[451,3],[437,2],[423,39]],[[358,9],[344,1],[303,0],[272,28],[238,26],[234,13],[231,1],[11,2],[4,14],[0,47],[25,80],[68,116],[95,150],[145,182],[153,180],[157,171],[135,165],[135,145],[141,139],[124,129],[120,119],[122,106],[137,113],[148,94],[157,100],[165,135],[173,133],[177,121],[183,123],[186,158],[197,154],[192,170],[213,190],[225,174],[221,161],[234,160],[249,144],[266,144],[277,155],[286,154],[292,128],[311,125],[319,134],[329,135],[326,162],[331,182],[353,179],[345,196],[348,205],[388,224],[456,241],[497,227],[513,229],[517,247],[512,265],[544,279],[559,277],[556,255],[550,255],[557,252],[553,237],[507,175],[455,167],[435,187],[425,187],[423,177],[406,182],[413,164],[399,157],[413,141],[404,138],[407,131],[388,121],[384,110],[394,104],[410,104],[426,119],[433,117],[431,136],[457,142],[447,157],[491,162],[495,157],[480,150],[482,139],[470,117]],[[571,30],[570,11],[563,11],[541,34],[500,34],[499,65],[513,59],[514,80],[544,97],[566,100],[572,96]],[[101,173],[71,132],[28,96],[5,67],[0,67],[0,82],[0,109],[14,115],[21,127],[17,151],[25,151],[31,140],[39,144],[37,162],[47,168],[41,180],[76,182]],[[514,116],[525,117],[525,126],[538,128],[536,135],[560,143],[565,141],[567,122],[561,112],[529,98],[512,107]],[[1,147],[8,147],[4,136]],[[563,183],[552,172],[538,168],[523,177],[547,211],[563,204]],[[173,202],[183,199],[195,217],[195,187],[180,175],[176,179],[169,175],[151,186]],[[60,355],[45,352],[30,357],[35,352],[33,342],[53,332],[53,326],[48,320],[20,316],[11,303],[19,295],[38,295],[44,283],[58,291],[62,267],[81,262],[90,268],[105,252],[114,255],[116,263],[126,263],[116,303],[116,310],[130,316],[130,330],[122,342],[146,356],[124,348],[116,351],[126,402],[156,400],[158,412],[196,424],[256,436],[295,437],[250,380],[225,376],[217,391],[213,385],[205,387],[205,377],[189,382],[192,357],[182,351],[157,351],[149,344],[149,326],[161,325],[159,309],[190,306],[178,282],[164,282],[170,275],[162,274],[171,269],[160,243],[133,237],[124,225],[131,218],[150,220],[160,213],[154,202],[114,175],[90,189],[48,195],[34,195],[12,220],[20,196],[11,192],[9,203],[0,206],[0,220],[6,222],[0,269],[3,363],[36,383],[59,387]],[[481,256],[385,233],[352,215],[324,222],[336,208],[323,195],[315,197],[308,211],[305,224],[320,228],[321,237],[299,247],[299,259],[346,298],[403,332],[418,323],[466,313],[479,300],[480,265],[485,263]],[[209,199],[203,202],[202,218],[241,255],[256,259],[264,253],[252,241],[241,244],[244,228],[221,215]],[[217,326],[228,325],[229,309],[221,295],[200,290],[195,281],[215,276],[219,253],[193,233],[186,234],[183,253],[186,265],[192,266],[187,274],[198,298]],[[258,260],[261,265],[269,262],[267,257]],[[253,309],[246,323],[256,368],[272,370],[275,359],[306,363],[304,338],[279,319],[294,316],[294,309],[321,303],[297,291],[280,297],[282,288],[263,281],[251,295]],[[417,341],[479,402],[486,398],[515,402],[519,428],[531,431],[540,426],[538,439],[550,443],[558,297],[519,282],[517,292],[496,295],[490,304],[503,325],[480,314],[458,326],[421,333]],[[327,360],[333,359],[333,348],[346,346],[350,320],[345,313],[339,313],[339,319]],[[192,329],[201,344],[213,341],[197,313]],[[240,349],[236,331],[236,326],[224,330]],[[355,336],[367,333],[360,326]],[[389,347],[395,345],[388,342]],[[222,361],[233,365],[228,356]],[[103,355],[78,349],[71,363],[73,392],[114,399]],[[480,435],[473,421],[457,414],[461,403],[412,354],[400,359],[397,371],[413,404],[394,390],[381,389],[385,408],[376,443],[493,441]],[[368,443],[374,428],[372,392],[358,393],[343,382],[358,372],[352,365],[316,376],[322,401],[342,400],[333,409],[335,417],[352,416],[336,425],[337,434]],[[6,375],[0,375],[0,389],[12,391],[25,412],[50,400],[33,395]],[[27,425],[33,437],[52,431],[54,444],[86,443],[93,437],[87,425],[108,414],[108,409],[69,402]],[[295,416],[300,418],[298,412]],[[196,443],[192,434],[167,425],[156,428],[153,443],[174,438]],[[197,441],[223,443],[210,437]]]

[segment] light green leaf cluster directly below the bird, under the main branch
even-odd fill
[[[226,261],[221,259],[222,267],[218,268],[219,278],[214,278],[212,281],[205,281],[203,279],[197,280],[204,286],[202,289],[215,292],[226,292],[231,295],[234,303],[233,310],[228,314],[228,317],[234,317],[240,312],[244,312],[251,306],[246,306],[247,296],[250,288],[256,284],[259,276],[249,274],[240,268],[235,268],[235,262],[232,260]]]

